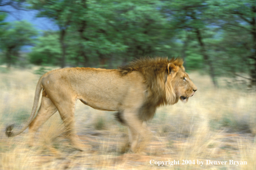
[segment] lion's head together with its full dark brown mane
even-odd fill
[[[156,107],[175,104],[179,99],[186,103],[197,90],[181,58],[142,58],[119,67],[119,71],[122,76],[132,71],[143,75],[147,96],[139,116],[144,121],[154,116]]]

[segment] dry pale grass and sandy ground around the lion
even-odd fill
[[[198,91],[186,104],[157,109],[147,122],[151,140],[138,154],[128,151],[127,128],[115,120],[114,112],[77,101],[76,130],[88,146],[88,151],[79,152],[62,135],[58,113],[40,128],[34,147],[27,146],[27,130],[6,137],[7,125],[15,123],[15,129],[21,128],[29,117],[39,76],[34,74],[35,67],[0,68],[0,170],[256,169],[256,93],[242,84],[227,87],[225,81],[232,79],[222,78],[222,88],[215,89],[209,76],[189,73]],[[169,160],[179,164],[155,165],[155,161]],[[182,164],[182,160],[187,161]],[[197,160],[204,164],[198,165]],[[212,165],[207,160],[227,163]],[[247,164],[237,166],[229,160]]]

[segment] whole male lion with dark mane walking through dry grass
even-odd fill
[[[40,109],[35,116],[39,103]],[[6,128],[14,137],[29,127],[29,145],[37,129],[55,112],[59,112],[71,144],[81,151],[85,145],[74,128],[76,100],[94,109],[117,111],[116,118],[128,126],[132,152],[138,136],[147,137],[144,121],[152,119],[157,107],[187,102],[197,91],[180,58],[141,58],[118,69],[61,68],[45,73],[38,81],[30,117],[19,131]]]

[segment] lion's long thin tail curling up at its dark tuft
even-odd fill
[[[35,92],[35,97],[34,97],[34,104],[33,104],[33,108],[32,108],[32,111],[31,111],[31,114],[26,122],[26,124],[21,128],[21,130],[17,131],[17,132],[13,132],[12,131],[12,128],[13,128],[13,124],[6,127],[6,132],[5,134],[8,136],[8,137],[15,137],[16,135],[18,134],[21,134],[23,131],[25,131],[25,129],[27,129],[27,127],[29,126],[29,124],[31,123],[31,121],[33,120],[34,116],[35,116],[35,113],[37,111],[37,106],[38,106],[38,103],[39,103],[39,98],[40,98],[40,92],[42,90],[42,79],[43,79],[43,76],[39,79],[39,81],[37,82],[37,88],[36,88],[36,92]]]

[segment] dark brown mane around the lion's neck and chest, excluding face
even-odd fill
[[[173,63],[185,70],[183,60],[181,58],[140,58],[131,63],[118,67],[122,76],[132,71],[140,72],[147,86],[147,99],[140,109],[140,118],[146,121],[153,118],[156,107],[167,104],[165,96],[165,81],[168,76],[168,64]]]

